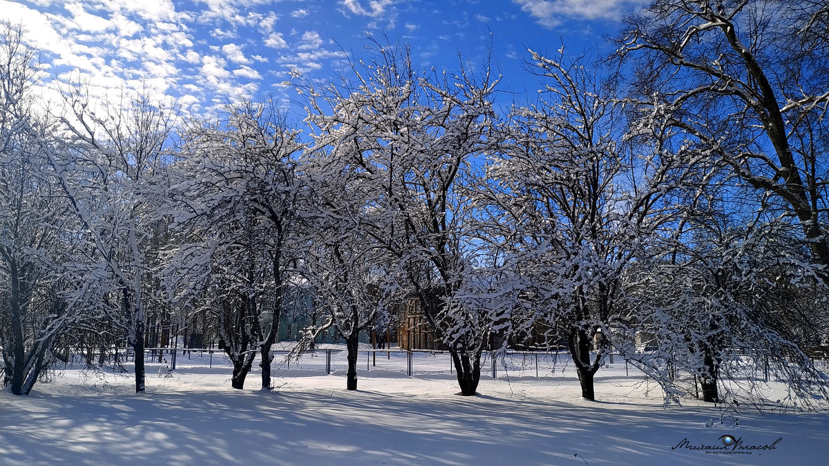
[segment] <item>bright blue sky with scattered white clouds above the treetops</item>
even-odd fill
[[[293,72],[329,80],[347,54],[366,56],[366,32],[411,46],[415,65],[457,68],[458,51],[480,63],[490,32],[501,90],[522,95],[537,78],[526,47],[578,53],[606,47],[642,0],[0,0],[46,53],[58,81],[90,83],[92,95],[148,89],[186,114],[228,102],[295,97]],[[53,83],[55,84],[55,83]],[[507,94],[509,95],[509,94]]]

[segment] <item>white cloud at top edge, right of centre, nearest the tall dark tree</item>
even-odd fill
[[[521,10],[535,17],[541,26],[556,27],[566,18],[619,21],[629,12],[642,7],[645,0],[512,0]]]

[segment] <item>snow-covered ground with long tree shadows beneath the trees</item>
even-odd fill
[[[227,366],[181,362],[172,376],[150,366],[143,395],[129,374],[80,369],[2,391],[0,464],[829,464],[825,413],[665,408],[636,377],[599,379],[596,402],[572,379],[482,377],[462,397],[448,374],[385,370],[361,371],[356,392],[342,370],[296,368],[274,391],[257,372],[235,391]],[[773,449],[725,450],[723,435]]]

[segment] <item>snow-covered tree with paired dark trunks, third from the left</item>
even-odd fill
[[[271,347],[288,286],[307,187],[297,132],[266,104],[227,108],[222,124],[191,124],[172,187],[181,246],[167,269],[176,299],[217,319],[242,388],[256,352],[270,388]]]

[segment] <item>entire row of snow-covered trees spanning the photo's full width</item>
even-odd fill
[[[80,85],[42,109],[38,53],[4,23],[4,384],[29,393],[59,345],[126,340],[142,392],[148,321],[197,314],[231,385],[258,354],[269,389],[298,287],[296,351],[334,330],[348,390],[359,334],[414,297],[464,396],[498,335],[565,342],[588,400],[611,351],[667,400],[676,370],[724,400],[738,355],[825,400],[806,350],[829,342],[827,32],[817,0],[657,0],[604,61],[529,51],[536,99],[503,111],[489,63],[419,70],[372,40],[341,80],[295,80],[300,129],[270,102],[184,120]]]

